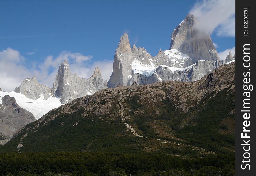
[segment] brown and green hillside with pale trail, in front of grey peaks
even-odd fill
[[[195,82],[117,87],[75,99],[28,124],[0,151],[22,144],[21,152],[234,152],[234,111],[230,63]]]

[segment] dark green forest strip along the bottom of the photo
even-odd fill
[[[161,153],[0,153],[1,175],[235,175],[235,155],[186,159]]]

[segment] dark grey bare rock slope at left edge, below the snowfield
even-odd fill
[[[0,145],[8,142],[23,126],[35,121],[31,112],[21,108],[13,97],[0,97]]]

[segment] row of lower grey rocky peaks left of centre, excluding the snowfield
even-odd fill
[[[26,78],[20,87],[16,87],[14,92],[24,94],[25,97],[36,100],[38,98],[47,100],[50,96],[60,97],[60,102],[65,104],[78,97],[94,94],[94,92],[107,88],[107,81],[102,79],[98,67],[89,79],[80,78],[76,73],[72,74],[69,64],[64,60],[59,66],[58,73],[49,88],[40,84],[36,77]]]

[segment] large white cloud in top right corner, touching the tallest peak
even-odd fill
[[[235,37],[234,0],[198,1],[189,13],[197,19],[195,28],[198,30],[207,34],[216,30],[219,36]]]

